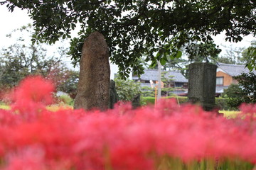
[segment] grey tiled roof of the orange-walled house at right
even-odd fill
[[[223,63],[218,62],[217,66],[220,69],[223,69],[223,71],[225,73],[229,74],[232,77],[238,76],[239,74],[242,74],[242,73],[249,72],[249,69],[247,69],[247,67],[245,67],[245,65],[223,64]],[[254,73],[256,73],[255,70],[254,70]]]

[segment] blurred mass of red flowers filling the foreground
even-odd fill
[[[46,108],[53,85],[28,77],[0,109],[0,169],[246,170],[256,163],[256,106],[233,119],[173,100],[132,110]]]

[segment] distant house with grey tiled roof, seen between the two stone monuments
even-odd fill
[[[156,81],[158,81],[158,74],[159,72],[157,69],[145,69],[144,74],[142,74],[141,77],[133,76],[132,79],[134,81],[140,81],[141,86],[151,87],[150,81],[153,82],[153,84],[156,84]],[[174,94],[183,93],[188,89],[188,79],[183,77],[181,72],[168,71],[164,74],[164,77],[172,80],[169,86],[174,88],[174,91],[172,91]]]

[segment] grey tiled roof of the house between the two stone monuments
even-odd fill
[[[164,72],[164,71],[162,71]],[[171,78],[170,78],[171,76]],[[165,74],[166,78],[170,78],[170,79],[174,79],[175,82],[188,82],[188,79],[186,79],[185,77],[183,77],[183,75],[181,74],[181,72],[177,72],[177,71],[168,71]],[[134,79],[134,77],[132,78]],[[142,76],[140,77],[141,80],[158,80],[158,70],[157,69],[145,69],[144,70],[144,74],[142,74]]]

